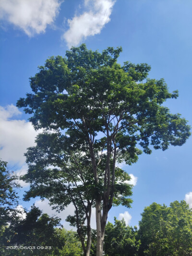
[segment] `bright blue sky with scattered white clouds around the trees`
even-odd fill
[[[180,97],[165,105],[192,125],[191,0],[1,0],[0,10],[0,156],[21,173],[26,170],[23,154],[34,145],[36,132],[16,101],[30,92],[28,78],[37,66],[49,56],[64,56],[72,45],[86,43],[92,50],[122,46],[120,63],[150,64],[150,78],[164,77],[170,91],[179,90]],[[123,166],[132,173],[134,202],[131,209],[112,208],[108,220],[124,217],[138,225],[152,202],[185,199],[192,207],[191,148],[192,138],[182,147],[155,150]],[[24,190],[26,184],[21,195]],[[51,214],[47,201],[20,203],[28,208],[33,202]],[[71,212],[69,207],[62,219]]]

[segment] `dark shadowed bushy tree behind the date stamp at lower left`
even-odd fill
[[[3,235],[4,247],[8,246],[29,246],[27,249],[29,255],[58,255],[60,249],[65,245],[62,237],[56,231],[55,227],[60,224],[60,219],[49,217],[48,214],[42,214],[37,207],[32,206],[29,212],[26,212],[26,218],[12,223],[7,227]],[[9,243],[7,237],[9,235]],[[46,247],[47,249],[39,249]],[[14,250],[14,254],[20,256],[26,254],[25,248]],[[12,255],[13,250],[5,250],[6,255]],[[9,254],[10,253],[10,254]],[[27,255],[28,255],[27,254]]]

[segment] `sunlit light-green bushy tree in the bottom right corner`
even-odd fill
[[[139,226],[140,256],[192,254],[192,210],[185,201],[145,207]]]

